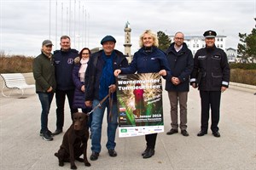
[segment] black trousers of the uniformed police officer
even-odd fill
[[[201,97],[201,131],[207,132],[209,110],[211,108],[212,132],[218,132],[220,91],[200,91]]]

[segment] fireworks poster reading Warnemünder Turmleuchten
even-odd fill
[[[117,78],[119,137],[164,132],[162,82],[158,73]]]

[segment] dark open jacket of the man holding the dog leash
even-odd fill
[[[85,101],[99,99],[100,79],[105,65],[105,61],[102,59],[102,52],[103,50],[100,50],[90,56],[85,72]],[[118,50],[114,50],[113,53],[115,53],[113,57],[113,71],[120,67],[128,66],[128,61],[124,54]],[[116,93],[113,94],[113,100],[116,101]]]

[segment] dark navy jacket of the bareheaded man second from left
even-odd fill
[[[69,49],[68,51],[56,50],[54,52],[57,89],[72,90],[75,88],[72,80],[73,60],[78,56],[79,52],[76,49]]]

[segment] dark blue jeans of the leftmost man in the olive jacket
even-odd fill
[[[41,113],[41,131],[40,133],[47,132],[48,129],[48,114],[51,101],[53,99],[54,94],[46,94],[46,93],[38,93],[39,100],[42,105],[42,113]]]

